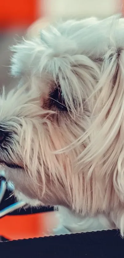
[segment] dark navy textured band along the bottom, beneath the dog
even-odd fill
[[[13,258],[124,258],[119,232],[101,231],[0,243],[0,257]]]

